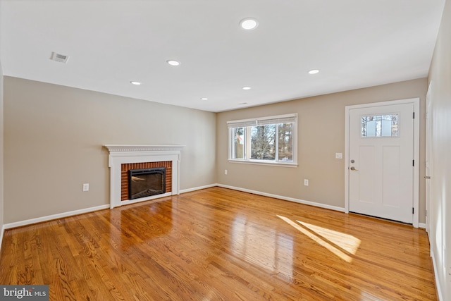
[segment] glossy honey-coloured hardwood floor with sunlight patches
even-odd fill
[[[50,300],[436,300],[422,229],[209,188],[7,230]]]

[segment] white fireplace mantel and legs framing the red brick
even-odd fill
[[[147,201],[180,192],[180,155],[183,145],[104,145],[109,150],[110,208]],[[172,192],[152,197],[121,201],[121,164],[172,161]]]

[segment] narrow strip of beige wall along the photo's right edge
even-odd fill
[[[429,238],[442,300],[451,300],[451,2],[445,3],[429,70],[433,110]],[[446,269],[443,268],[446,264]]]

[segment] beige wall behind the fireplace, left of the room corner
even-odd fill
[[[106,144],[185,145],[180,189],[216,183],[216,113],[11,77],[4,113],[5,223],[109,204]]]

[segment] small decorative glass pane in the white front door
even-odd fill
[[[397,137],[398,114],[362,116],[362,137]]]

